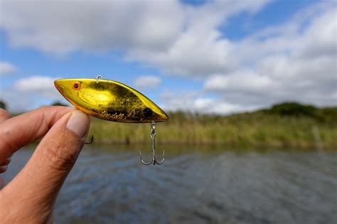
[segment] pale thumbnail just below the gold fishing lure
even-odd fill
[[[78,137],[82,138],[87,133],[87,129],[89,129],[90,119],[87,114],[75,111],[72,112],[70,118],[68,119],[67,128],[71,132],[77,134]]]

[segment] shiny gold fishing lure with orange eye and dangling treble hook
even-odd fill
[[[54,84],[65,99],[86,114],[112,122],[151,123],[152,159],[145,162],[140,151],[141,162],[164,162],[165,152],[161,161],[156,160],[156,122],[166,122],[169,116],[149,98],[120,82],[104,80],[101,75],[96,79],[60,79]]]

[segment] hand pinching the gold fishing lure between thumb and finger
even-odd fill
[[[44,137],[18,175],[0,186],[0,223],[53,223],[58,192],[80,154],[90,119],[70,107],[10,117],[0,109],[0,173],[18,149]]]

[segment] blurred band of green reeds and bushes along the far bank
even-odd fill
[[[321,145],[336,149],[337,107],[316,108],[297,103],[274,105],[229,116],[171,112],[157,124],[159,144],[226,144],[228,146],[314,147],[313,129]],[[124,124],[92,118],[95,142],[149,143],[149,124]],[[317,138],[316,138],[317,139]]]

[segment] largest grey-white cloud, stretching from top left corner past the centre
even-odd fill
[[[228,65],[228,41],[217,26],[269,0],[1,1],[0,27],[13,47],[68,55],[124,50],[129,60],[178,75],[204,75]],[[202,58],[202,60],[200,60]]]

